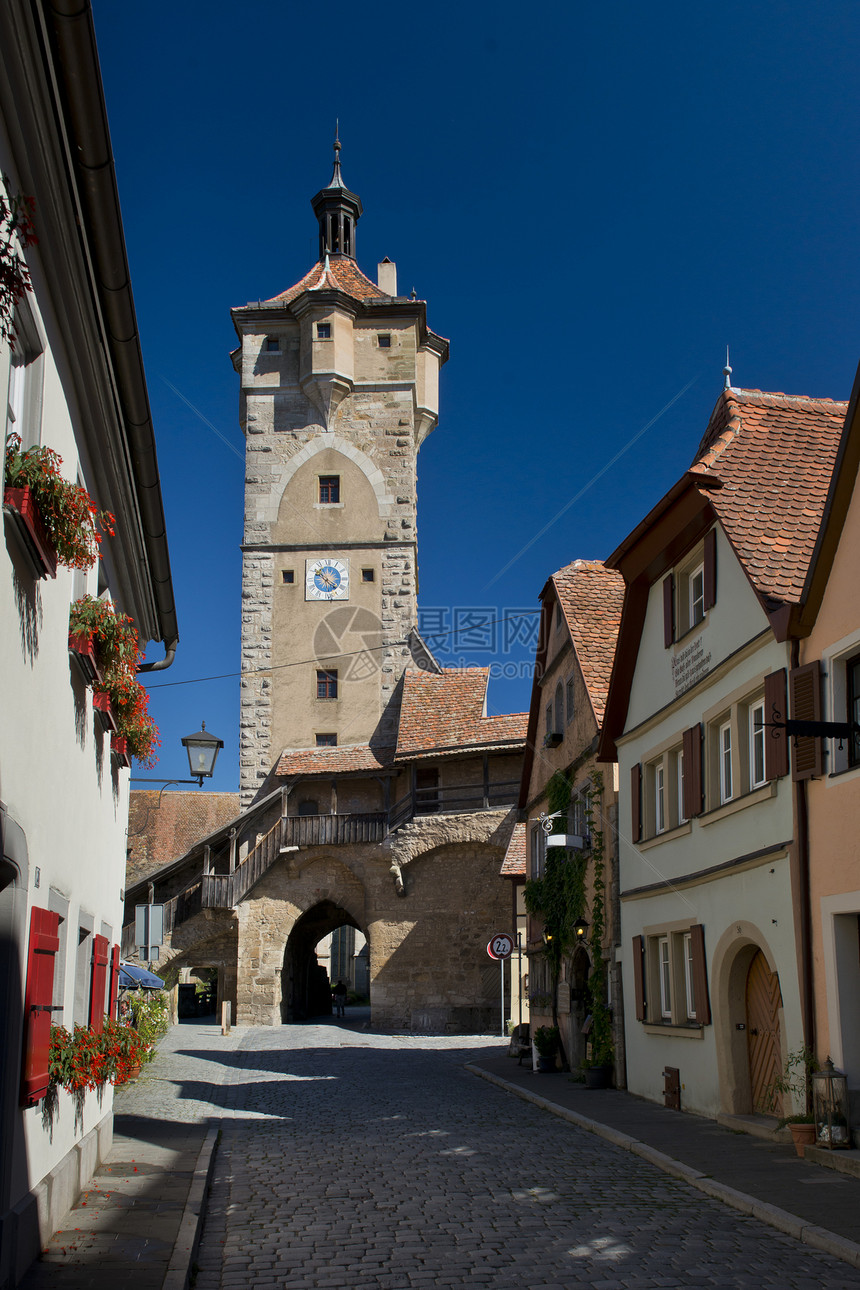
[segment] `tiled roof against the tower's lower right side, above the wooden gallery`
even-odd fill
[[[486,716],[489,677],[489,667],[405,672],[396,760],[504,747],[520,751],[529,713]]]

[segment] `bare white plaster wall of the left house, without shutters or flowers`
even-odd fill
[[[34,280],[37,276],[34,273]],[[30,299],[39,313],[35,297]],[[63,473],[75,479],[79,470],[75,428],[50,352],[54,332],[50,319],[45,320],[44,330],[49,347],[44,360],[41,439],[63,458]],[[3,374],[6,369],[8,353],[0,352],[4,409]],[[107,504],[107,499],[98,501]],[[55,1020],[71,1028],[80,915],[88,916],[94,933],[108,934],[110,929],[111,944],[120,937],[129,771],[111,765],[110,737],[95,731],[92,694],[77,679],[68,657],[72,570],[61,566],[55,579],[34,580],[9,522],[4,529],[0,546],[0,797],[27,838],[27,933],[30,908],[49,908],[52,890],[68,902],[64,1011],[62,1017],[57,1014]],[[97,570],[92,570],[86,590],[95,593],[97,580]],[[79,595],[83,595],[80,587]],[[35,885],[36,869],[40,871],[39,888]],[[27,947],[21,948],[23,982]],[[18,1196],[26,1195],[54,1169],[111,1107],[110,1086],[101,1100],[90,1094],[83,1129],[76,1129],[70,1099],[61,1094],[53,1136],[43,1127],[39,1107],[22,1111],[15,1139]]]

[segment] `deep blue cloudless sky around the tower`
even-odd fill
[[[726,343],[735,384],[848,396],[856,4],[94,12],[179,613],[159,774],[205,719],[211,787],[237,784],[239,679],[195,680],[239,670],[230,308],[316,259],[335,117],[358,263],[395,259],[451,342],[419,457],[420,602],[444,628],[534,609],[554,569],[609,555],[689,464]],[[530,693],[530,648],[503,645],[437,642],[517,673],[495,712]]]

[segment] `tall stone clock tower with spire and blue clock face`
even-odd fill
[[[425,302],[356,263],[361,199],[312,200],[320,259],[232,311],[245,453],[241,801],[285,748],[395,742],[416,620],[416,458],[447,342]]]

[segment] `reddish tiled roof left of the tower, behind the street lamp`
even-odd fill
[[[160,800],[159,800],[160,799]],[[134,886],[239,815],[239,793],[165,792],[134,788],[129,795],[125,884]]]

